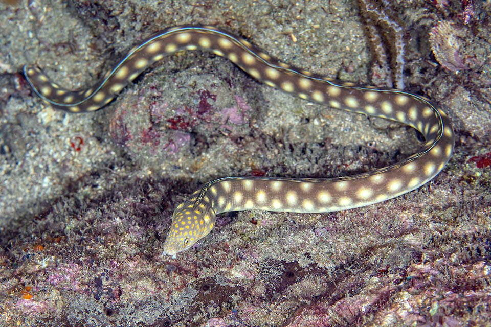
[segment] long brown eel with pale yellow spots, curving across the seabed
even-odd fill
[[[175,208],[163,246],[164,253],[174,258],[208,235],[217,214],[249,209],[323,213],[382,202],[431,180],[452,155],[451,120],[428,98],[332,80],[295,68],[213,26],[177,26],[149,36],[87,90],[63,89],[35,66],[25,66],[24,74],[36,94],[52,107],[69,112],[94,111],[113,100],[149,65],[182,50],[205,50],[226,57],[255,79],[301,99],[404,123],[421,132],[426,143],[403,161],[353,176],[225,177],[208,182]]]

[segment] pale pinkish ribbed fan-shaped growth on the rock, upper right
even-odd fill
[[[455,72],[469,68],[460,57],[460,36],[461,31],[444,20],[440,20],[430,31],[431,50],[436,60],[443,67]]]

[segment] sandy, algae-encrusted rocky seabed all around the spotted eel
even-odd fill
[[[415,153],[417,133],[286,95],[209,53],[166,58],[84,114],[44,104],[23,65],[82,89],[155,31],[213,24],[370,83],[356,2],[0,3],[0,325],[491,324],[491,4],[441,3],[390,9],[406,90],[454,122],[455,154],[434,180],[342,212],[220,215],[176,259],[162,254],[171,215],[200,184],[362,173]],[[459,72],[430,49],[439,20],[458,36]]]

